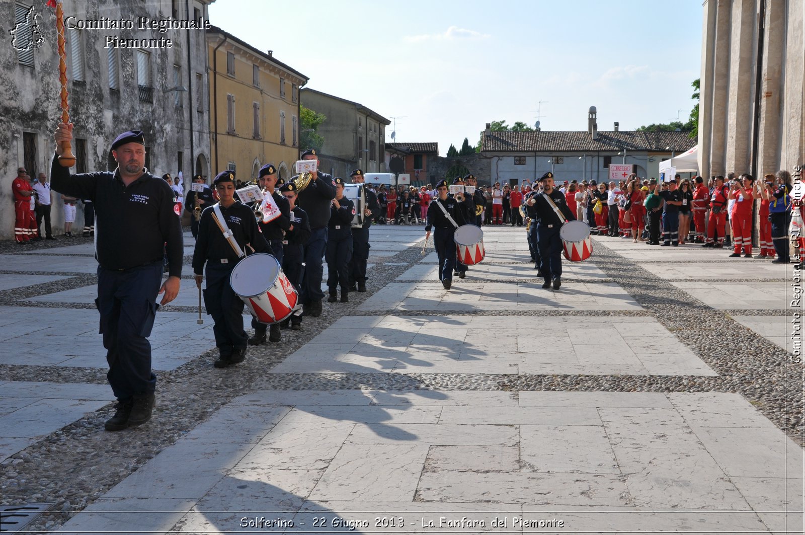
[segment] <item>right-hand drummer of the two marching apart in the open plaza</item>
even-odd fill
[[[576,215],[568,208],[568,202],[558,189],[554,189],[553,173],[547,172],[542,177],[543,193],[532,197],[534,211],[537,219],[537,247],[542,261],[543,288],[558,290],[562,285],[562,239],[559,238],[559,228],[564,224],[555,213],[554,206],[560,210],[568,221],[575,221]],[[553,205],[545,197],[550,197]]]

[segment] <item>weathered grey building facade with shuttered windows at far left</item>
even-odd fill
[[[73,172],[114,169],[110,146],[115,136],[141,130],[147,139],[149,171],[171,175],[182,171],[185,189],[189,189],[193,172],[208,175],[204,21],[210,3],[212,0],[64,2],[69,115],[75,125]],[[49,175],[55,149],[53,131],[61,114],[56,11],[45,2],[2,0],[0,14],[6,21],[14,21],[8,27],[30,31],[31,7],[41,45],[18,50],[14,46],[26,48],[25,43],[4,39],[0,47],[3,239],[14,234],[11,181],[16,169],[25,166],[31,175]],[[142,18],[148,22],[143,24]],[[168,18],[188,23],[165,31],[151,25]],[[196,24],[189,24],[193,20]],[[131,27],[110,28],[109,21],[125,21]],[[54,197],[58,195],[54,193]],[[54,207],[54,227],[60,230],[63,210]],[[77,215],[76,222],[83,222],[83,214]]]

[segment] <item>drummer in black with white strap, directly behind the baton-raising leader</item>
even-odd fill
[[[255,252],[270,252],[266,238],[263,237],[254,219],[252,209],[235,200],[234,178],[233,172],[224,171],[213,181],[220,199],[218,206],[221,208],[226,226],[232,231],[233,238],[242,251],[246,251],[246,246],[249,245]],[[229,276],[232,275],[239,258],[214,218],[213,206],[208,206],[201,213],[192,267],[196,276],[196,287],[201,288],[201,282],[204,280],[202,275],[204,264],[207,266],[204,306],[215,321],[213,333],[219,352],[219,357],[213,365],[223,368],[242,363],[246,359],[246,332],[243,330],[244,303],[229,284]]]

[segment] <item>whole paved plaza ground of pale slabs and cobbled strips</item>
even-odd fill
[[[0,503],[58,533],[803,533],[792,266],[594,238],[554,291],[484,229],[445,291],[421,226],[372,227],[369,292],[225,370],[185,268],[119,433],[91,244],[0,255]]]

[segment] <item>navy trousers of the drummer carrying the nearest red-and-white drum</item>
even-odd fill
[[[204,290],[204,306],[213,317],[215,345],[221,355],[232,355],[234,349],[246,347],[246,331],[243,330],[244,303],[229,285],[229,276],[234,263],[207,263],[207,288]]]

